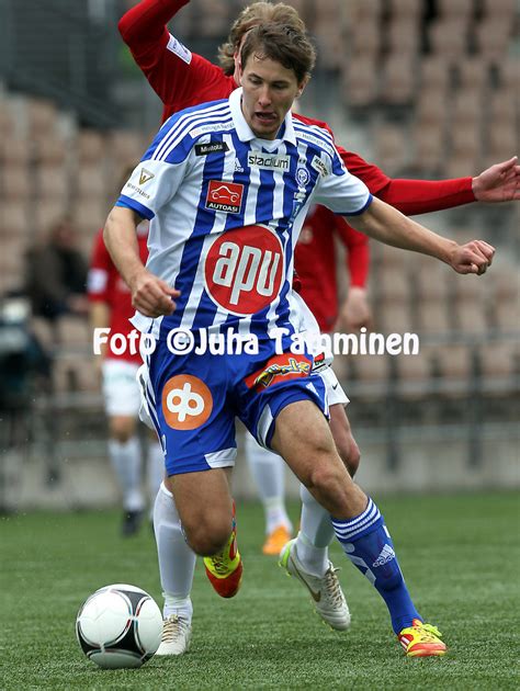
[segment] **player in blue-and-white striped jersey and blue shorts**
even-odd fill
[[[294,245],[316,202],[371,237],[459,273],[485,273],[495,250],[437,236],[347,172],[330,134],[290,111],[313,65],[305,34],[276,24],[252,29],[240,52],[242,88],[162,126],[109,215],[105,242],[132,290],[135,326],[156,339],[147,359],[149,411],[192,550],[207,563],[233,540],[228,474],[239,417],[329,512],[346,555],[384,599],[406,654],[443,655],[439,633],[411,601],[377,507],[336,451],[313,355],[291,348],[299,329]],[[143,217],[151,219],[146,268],[135,240]],[[202,348],[229,332],[256,337],[258,348]],[[273,342],[281,333],[283,354]],[[218,568],[213,576],[222,577]]]

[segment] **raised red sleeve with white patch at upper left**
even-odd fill
[[[123,41],[165,104],[163,120],[184,107],[227,98],[236,87],[218,66],[192,54],[168,31],[167,22],[188,1],[143,0],[118,22]]]

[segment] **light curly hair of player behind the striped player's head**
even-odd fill
[[[305,33],[305,23],[297,11],[290,4],[278,2],[253,2],[240,12],[231,26],[227,41],[218,48],[218,61],[228,76],[235,71],[234,54],[238,50],[242,36],[249,30],[265,22],[276,23],[297,32]]]

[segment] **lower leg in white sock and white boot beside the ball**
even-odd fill
[[[172,494],[161,484],[154,507],[154,533],[165,605],[165,625],[156,655],[182,655],[190,646],[191,589],[196,556],[186,544]]]

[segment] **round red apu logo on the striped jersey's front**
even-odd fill
[[[219,235],[204,264],[212,301],[231,314],[252,315],[278,296],[283,277],[283,248],[265,226],[247,226]]]

